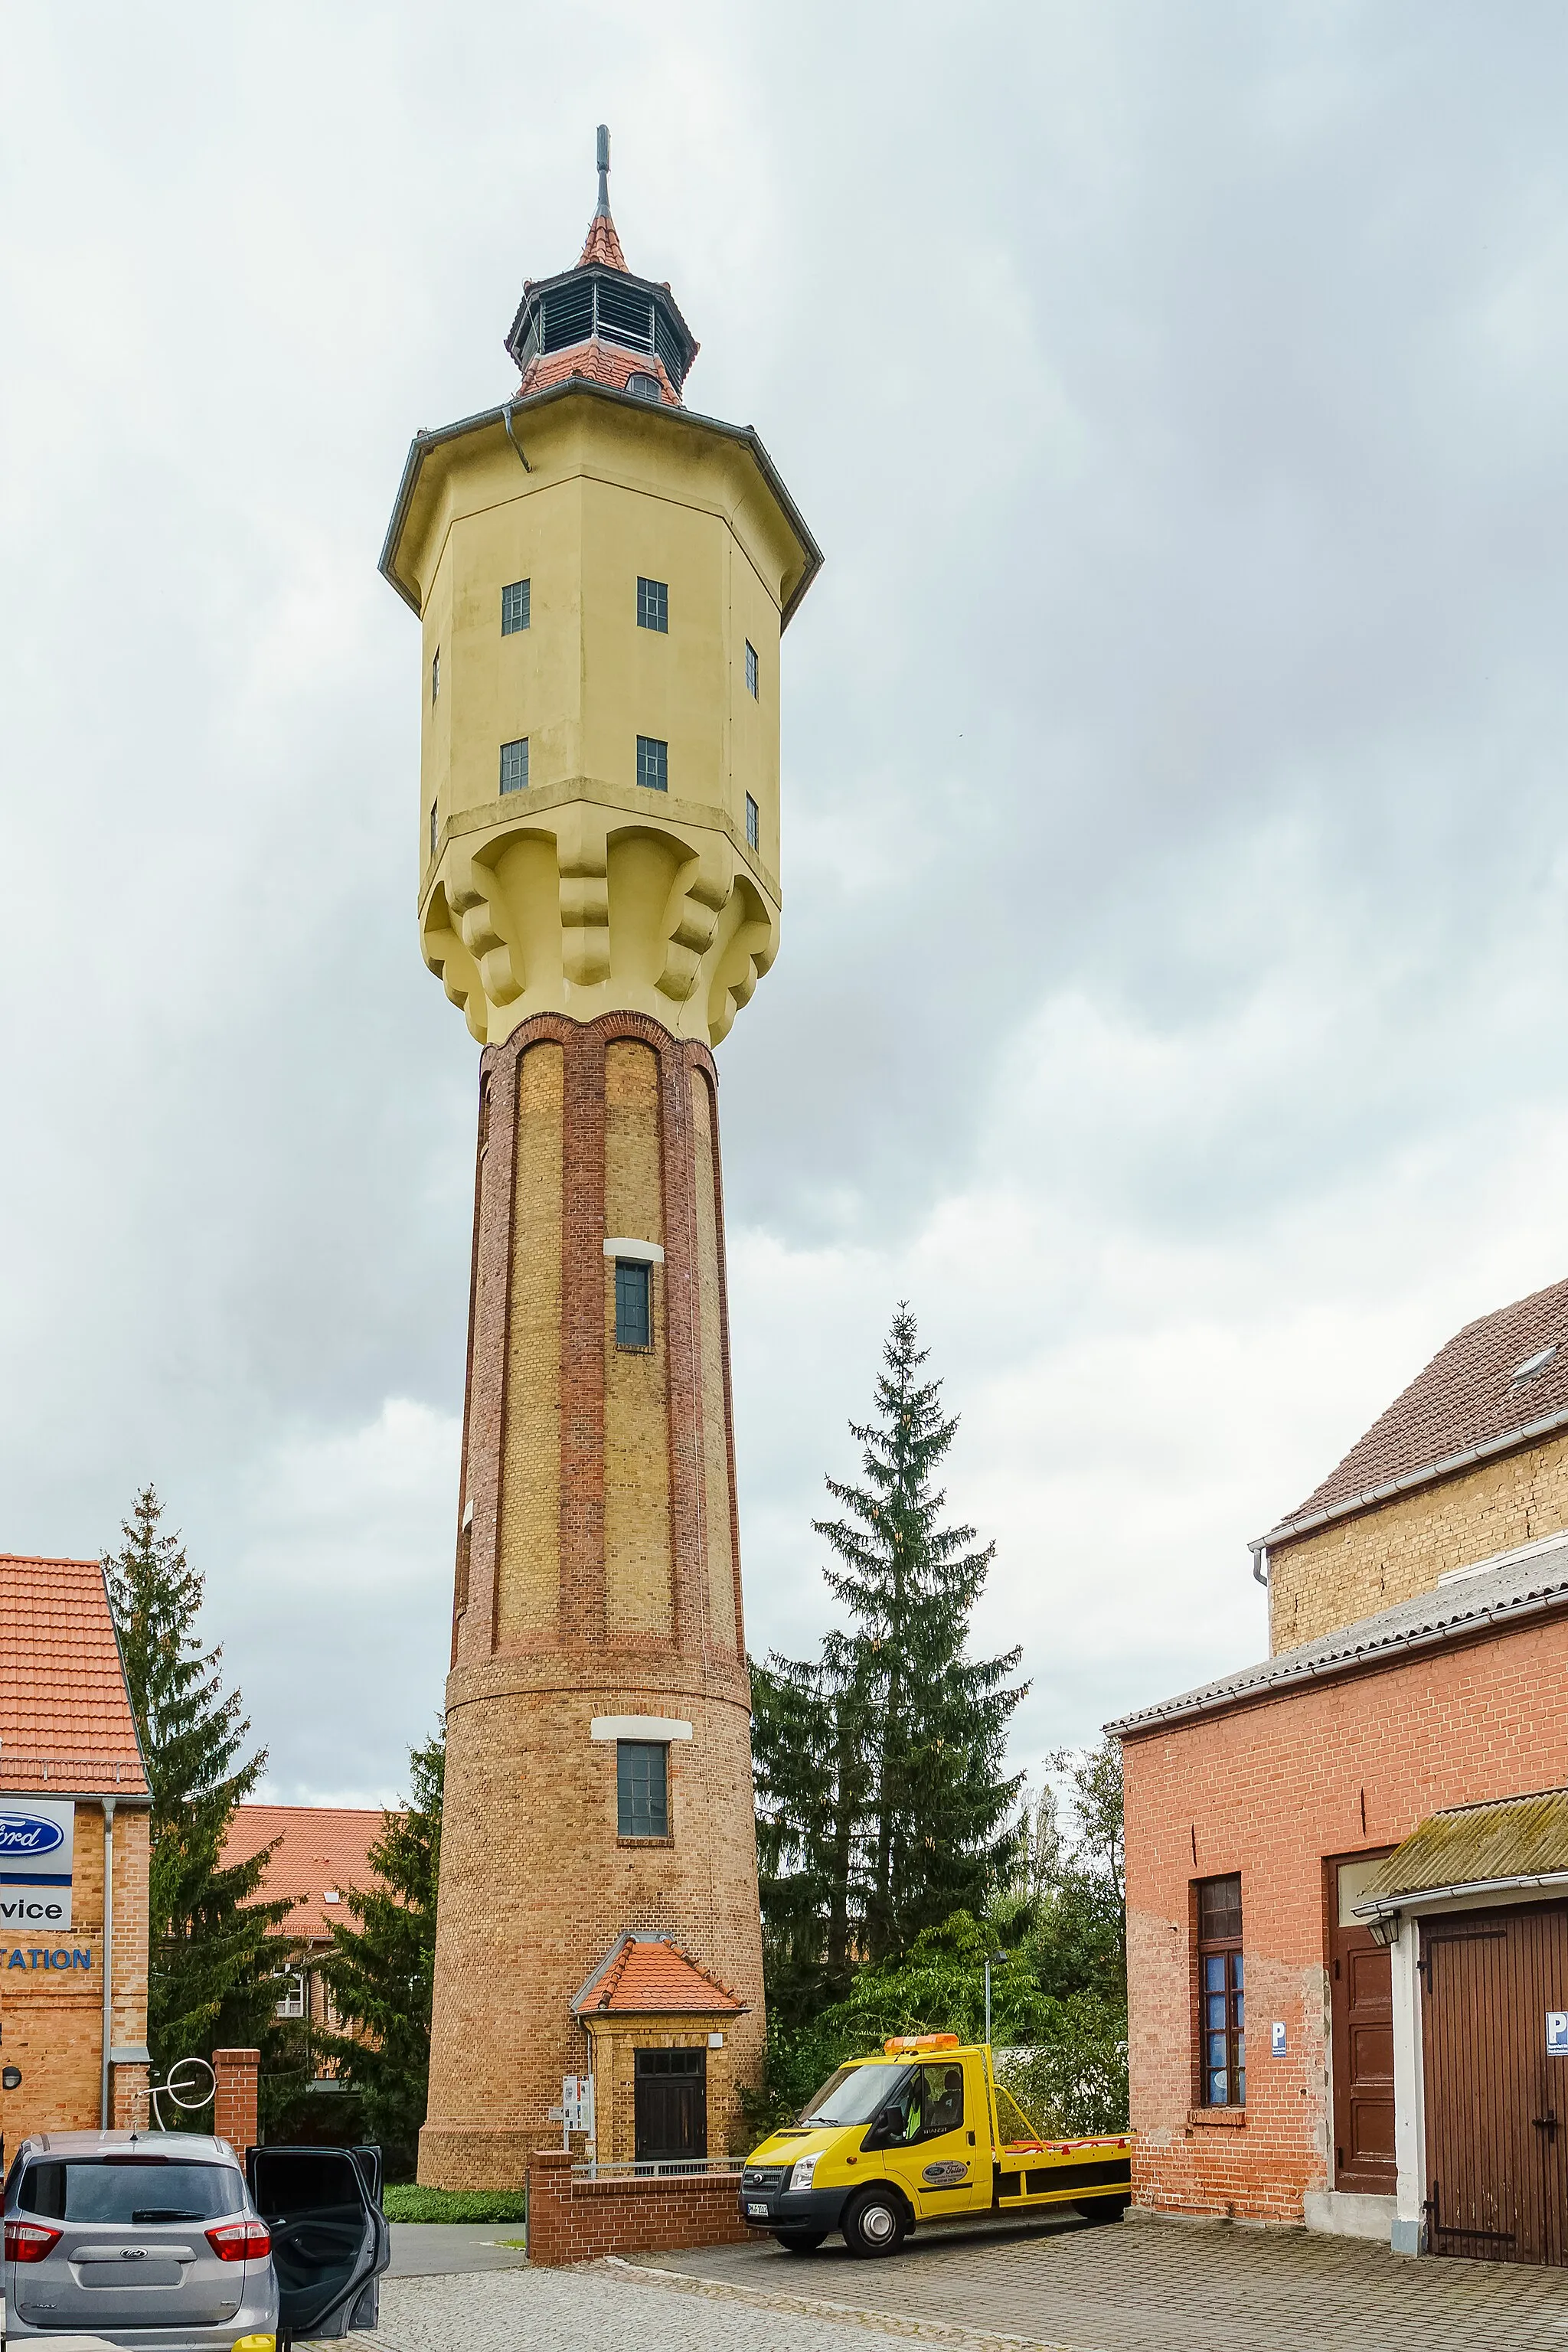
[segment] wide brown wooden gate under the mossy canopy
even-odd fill
[[[1432,2253],[1563,2263],[1568,1912],[1540,1905],[1427,1919],[1420,1931]]]

